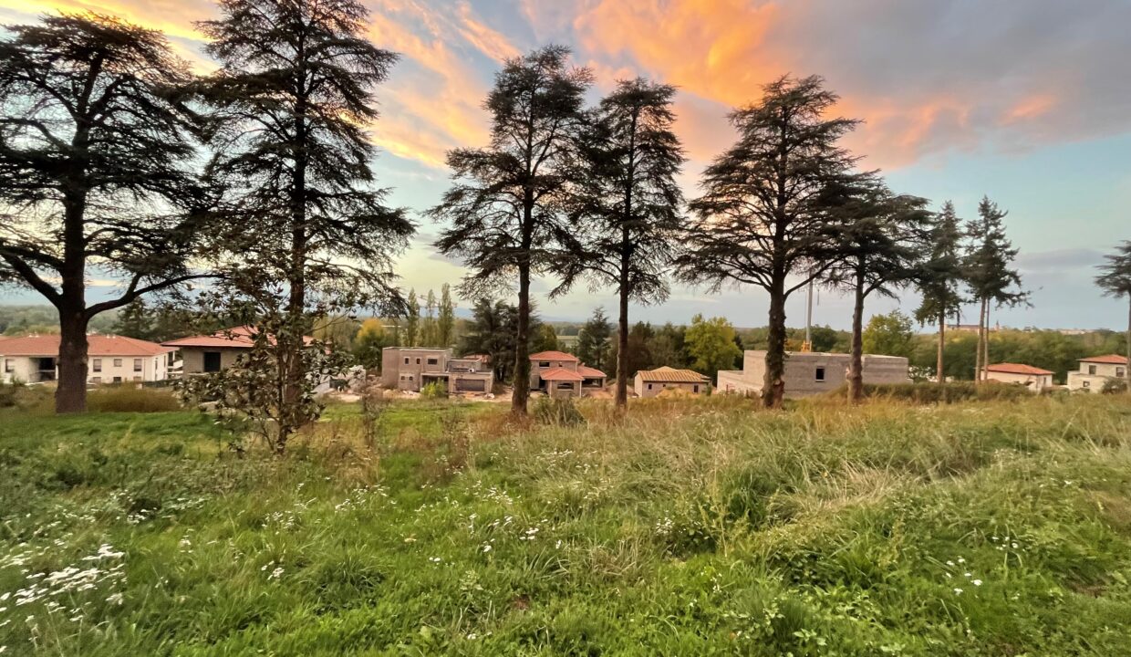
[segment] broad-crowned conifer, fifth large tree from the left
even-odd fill
[[[854,180],[838,142],[856,121],[831,118],[837,95],[819,77],[782,77],[757,104],[731,113],[737,142],[707,167],[690,208],[679,277],[711,289],[754,285],[769,294],[762,401],[785,395],[785,304],[832,263],[837,215],[829,188]]]

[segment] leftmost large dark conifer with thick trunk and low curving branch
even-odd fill
[[[107,16],[45,16],[0,41],[0,283],[58,311],[59,413],[86,409],[94,318],[202,276],[188,262],[206,199],[174,100],[189,79],[159,32]],[[92,268],[122,292],[88,301]]]

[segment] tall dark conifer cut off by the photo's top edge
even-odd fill
[[[279,377],[277,446],[312,421],[305,403],[321,366],[304,336],[319,317],[356,306],[399,310],[392,259],[414,228],[374,184],[375,92],[397,60],[368,38],[356,0],[219,0],[198,24],[219,69],[197,85],[209,111],[209,182],[224,190],[215,235],[228,292],[277,318],[270,334]],[[285,282],[285,297],[268,293]],[[239,303],[233,299],[234,303]],[[274,308],[284,303],[280,312]]]

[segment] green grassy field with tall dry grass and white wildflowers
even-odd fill
[[[1131,655],[1131,403],[0,412],[7,655]]]

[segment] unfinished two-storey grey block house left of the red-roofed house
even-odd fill
[[[442,383],[448,392],[490,392],[494,371],[490,358],[483,355],[457,358],[451,349],[381,349],[381,386],[418,392],[429,383]]]

